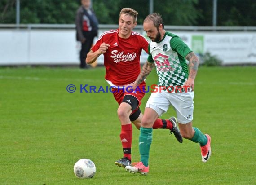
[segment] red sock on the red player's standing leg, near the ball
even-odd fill
[[[123,146],[124,157],[132,160],[132,124],[121,125],[120,139]]]

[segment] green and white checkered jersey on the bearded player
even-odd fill
[[[188,78],[185,57],[190,52],[180,37],[169,32],[159,42],[150,42],[148,62],[155,63],[158,86],[166,87],[170,93],[179,92],[173,89],[183,87]]]

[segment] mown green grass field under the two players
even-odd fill
[[[122,146],[112,93],[79,93],[80,84],[107,86],[104,75],[102,67],[0,68],[1,185],[256,184],[255,66],[199,68],[194,126],[211,135],[211,159],[202,163],[198,144],[180,144],[168,130],[154,130],[148,176],[114,164]],[[154,71],[146,83],[156,80]],[[67,92],[69,84],[75,93]],[[162,118],[170,115],[172,108]],[[133,131],[136,162],[139,131]],[[96,164],[93,179],[75,177],[73,165],[81,158]]]

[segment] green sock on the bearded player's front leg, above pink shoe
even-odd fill
[[[141,127],[140,131],[139,150],[141,154],[141,162],[147,167],[149,162],[150,145],[152,143],[153,128]]]

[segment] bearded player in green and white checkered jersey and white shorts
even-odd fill
[[[152,42],[149,44],[149,56],[142,67],[137,80],[130,86],[135,89],[156,66],[158,86],[146,103],[141,122],[139,151],[141,160],[135,166],[125,167],[130,172],[147,174],[149,172],[149,153],[152,142],[152,125],[173,106],[182,137],[201,148],[202,161],[208,161],[211,155],[211,137],[192,127],[194,109],[194,79],[199,59],[193,51],[177,36],[164,30],[163,19],[159,13],[148,15],[143,29]],[[189,61],[189,69],[186,64]]]

